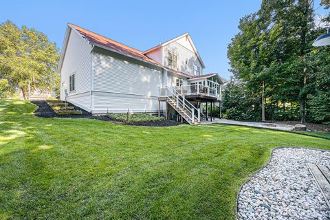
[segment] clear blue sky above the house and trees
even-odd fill
[[[10,0],[1,3],[0,22],[10,20],[19,27],[35,28],[60,50],[67,23],[141,51],[188,32],[206,65],[203,74],[217,72],[230,78],[227,46],[239,32],[239,19],[260,5],[261,0]]]

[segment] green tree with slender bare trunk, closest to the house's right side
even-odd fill
[[[261,120],[265,120],[265,91],[272,82],[270,68],[274,63],[276,33],[269,28],[272,23],[267,4],[262,10],[243,17],[239,34],[228,45],[231,71],[250,90],[250,95],[261,96]]]

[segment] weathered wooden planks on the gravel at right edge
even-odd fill
[[[316,179],[316,182],[325,196],[327,205],[330,208],[330,169],[327,166],[316,165],[316,164],[307,164],[311,174]]]

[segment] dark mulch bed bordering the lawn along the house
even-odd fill
[[[68,106],[72,106],[77,110],[83,111],[83,114],[81,115],[58,115],[55,113],[55,111],[47,104],[44,100],[34,100],[31,101],[33,104],[36,104],[38,106],[38,109],[34,111],[34,115],[41,117],[41,118],[87,118],[87,119],[96,119],[96,120],[102,120],[107,122],[113,122],[115,124],[124,124],[124,125],[136,125],[136,126],[177,126],[181,124],[180,122],[175,122],[172,120],[159,120],[155,122],[117,122],[114,120],[111,120],[106,115],[99,115],[95,116],[89,113],[88,111],[85,111],[84,109],[81,109],[77,107],[76,105],[69,103]]]

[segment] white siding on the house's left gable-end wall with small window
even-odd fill
[[[91,45],[71,30],[67,49],[61,69],[61,100],[65,99],[67,89],[68,101],[82,109],[90,111],[91,108]],[[76,90],[69,91],[69,76],[76,74]]]

